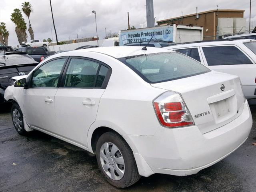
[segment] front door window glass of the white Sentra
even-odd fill
[[[52,60],[37,70],[32,76],[32,87],[57,87],[60,72],[66,58]]]

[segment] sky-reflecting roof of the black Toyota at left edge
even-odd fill
[[[0,65],[0,68],[3,66],[15,66],[22,64],[37,64],[34,59],[25,56],[24,54],[8,54],[0,55],[0,62],[5,63],[6,65]]]

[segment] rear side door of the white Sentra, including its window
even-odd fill
[[[90,58],[71,57],[55,96],[55,132],[87,147],[87,133],[95,121],[111,68]]]

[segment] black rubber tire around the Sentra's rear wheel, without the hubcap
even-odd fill
[[[124,176],[120,180],[111,179],[102,168],[102,164],[100,162],[100,148],[106,142],[111,142],[112,144],[115,144],[124,158],[125,171]],[[106,180],[117,188],[126,188],[128,186],[131,186],[132,184],[136,183],[141,177],[139,175],[138,168],[130,146],[119,134],[115,132],[106,132],[100,136],[96,145],[96,157],[98,166],[102,174],[105,176]]]

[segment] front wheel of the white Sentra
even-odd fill
[[[14,128],[20,135],[26,135],[28,132],[24,128],[24,122],[23,122],[23,114],[20,110],[20,106],[18,104],[14,103],[12,105],[12,122],[14,125]]]

